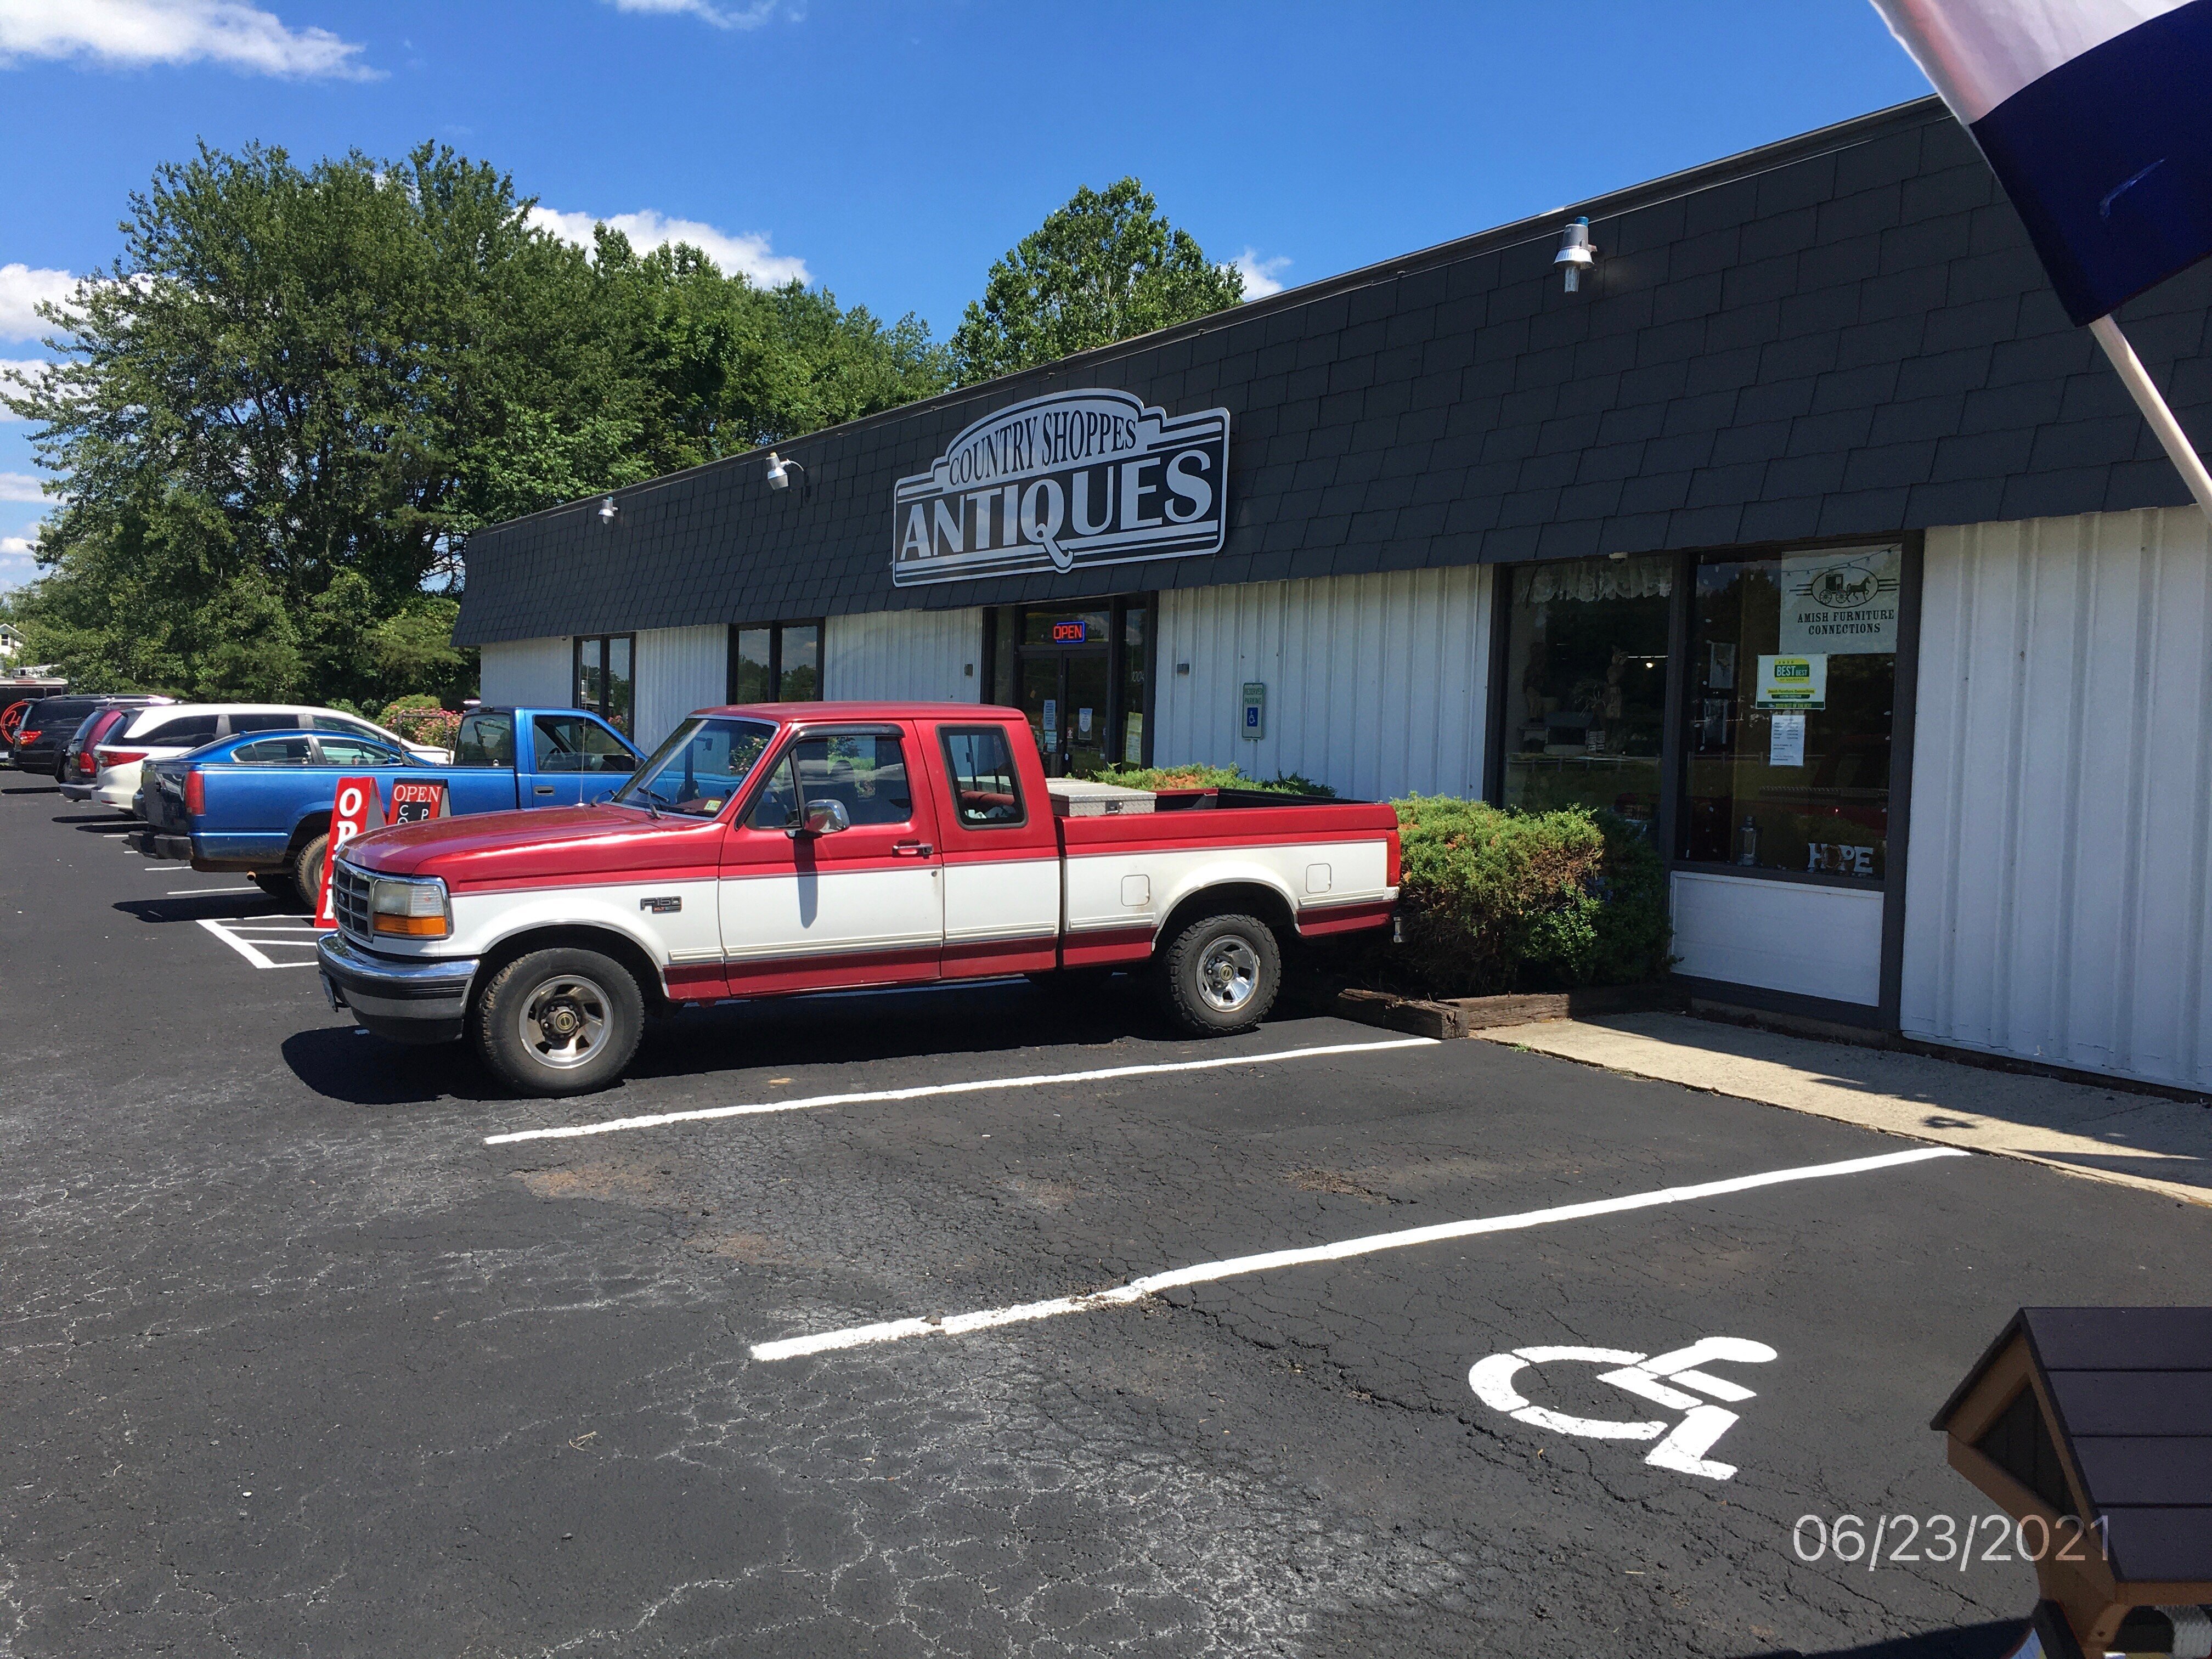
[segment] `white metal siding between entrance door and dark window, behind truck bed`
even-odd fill
[[[1298,772],[1369,801],[1482,794],[1489,566],[1177,588],[1159,611],[1157,763]],[[1259,741],[1237,728],[1245,681],[1267,686]]]

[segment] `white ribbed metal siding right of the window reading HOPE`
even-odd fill
[[[1922,604],[1905,1031],[2212,1084],[2203,515],[1929,531]]]

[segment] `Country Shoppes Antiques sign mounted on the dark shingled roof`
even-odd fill
[[[1168,416],[1128,392],[998,409],[894,491],[891,580],[971,582],[1219,553],[1230,411]]]

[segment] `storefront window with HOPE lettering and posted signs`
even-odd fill
[[[1889,872],[1896,546],[1697,566],[1683,858]]]

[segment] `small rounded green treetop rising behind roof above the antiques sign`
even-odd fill
[[[951,352],[962,385],[1237,305],[1243,276],[1175,230],[1137,179],[1079,188],[991,265]]]

